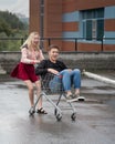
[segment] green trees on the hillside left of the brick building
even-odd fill
[[[0,11],[0,51],[20,50],[21,39],[27,35],[27,22],[22,22],[14,13]]]

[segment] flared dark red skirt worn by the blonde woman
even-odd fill
[[[20,62],[11,72],[12,78],[21,79],[23,81],[30,80],[35,82],[40,80],[40,76],[35,75],[33,64],[25,64]]]

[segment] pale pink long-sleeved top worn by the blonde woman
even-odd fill
[[[27,63],[27,64],[32,64],[33,60],[44,60],[42,51],[30,51],[27,48],[22,48],[21,50],[22,56],[21,56],[21,62]]]

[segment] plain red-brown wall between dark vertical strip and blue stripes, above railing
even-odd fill
[[[62,0],[44,2],[44,37],[62,37]]]

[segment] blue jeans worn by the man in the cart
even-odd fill
[[[58,74],[58,76],[55,75],[52,81],[58,82],[58,83],[62,81],[64,91],[70,91],[72,85],[74,86],[74,89],[80,89],[81,88],[81,71],[79,69],[74,69],[73,71],[63,70]],[[54,83],[52,84],[52,88],[53,86],[54,86]],[[58,89],[58,85],[55,88]]]

